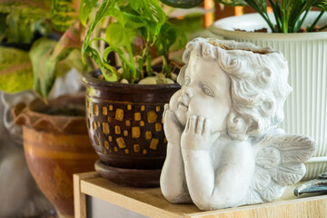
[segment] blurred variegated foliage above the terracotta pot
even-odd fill
[[[0,3],[0,90],[35,90],[45,102],[55,78],[72,68],[83,74],[83,25],[78,0]]]

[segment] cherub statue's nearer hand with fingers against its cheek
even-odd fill
[[[190,150],[207,150],[213,144],[210,120],[203,116],[191,116],[182,134],[182,147]]]

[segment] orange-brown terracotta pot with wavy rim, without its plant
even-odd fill
[[[74,110],[74,116],[55,115],[54,109],[76,105],[82,110]],[[29,170],[59,217],[74,217],[73,173],[93,171],[98,158],[87,134],[83,108],[84,95],[67,95],[48,105],[35,100],[13,110],[15,124],[23,125]]]

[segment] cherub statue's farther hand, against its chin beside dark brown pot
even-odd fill
[[[163,130],[169,143],[180,144],[183,126],[178,122],[169,104],[164,104]]]

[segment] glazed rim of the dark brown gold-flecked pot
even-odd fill
[[[129,89],[129,90],[160,90],[160,89],[167,89],[167,88],[180,88],[180,84],[121,84],[115,82],[108,82],[105,80],[100,80],[95,78],[94,76],[101,74],[99,69],[90,71],[84,74],[82,81],[86,85],[90,86],[98,86],[98,87],[115,87],[115,88],[122,88],[122,89]]]

